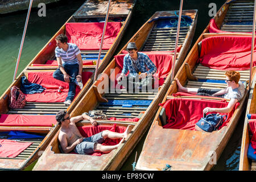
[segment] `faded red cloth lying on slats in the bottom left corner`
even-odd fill
[[[0,139],[0,157],[15,158],[31,144],[31,142],[16,142],[13,140]]]

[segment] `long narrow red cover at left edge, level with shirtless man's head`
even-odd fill
[[[55,115],[1,114],[0,126],[52,126]]]

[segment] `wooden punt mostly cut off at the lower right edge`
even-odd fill
[[[243,124],[243,135],[242,135],[242,143],[241,143],[241,152],[240,152],[240,164],[239,164],[239,170],[240,171],[250,171],[250,170],[256,170],[256,161],[249,159],[247,157],[247,153],[249,151],[249,145],[251,137],[253,136],[253,133],[251,131],[249,122],[250,119],[247,118],[247,114],[256,114],[255,110],[255,93],[256,93],[256,77],[254,76],[253,84],[251,85],[250,93],[249,93],[249,99],[247,102],[246,107],[246,114],[245,114],[245,122]]]

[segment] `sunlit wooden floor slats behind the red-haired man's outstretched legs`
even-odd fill
[[[226,80],[225,76],[226,71],[221,71],[217,69],[211,69],[208,67],[204,67],[203,65],[197,65],[197,68],[193,72],[193,76],[196,76],[199,79],[206,79],[206,80]],[[246,81],[250,78],[250,69],[245,71],[239,71],[241,78],[240,81]],[[215,88],[215,89],[224,89],[226,88],[226,83],[216,83],[216,82],[201,82],[201,81],[193,81],[189,80],[187,82],[186,87],[190,88]]]

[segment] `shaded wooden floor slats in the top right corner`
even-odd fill
[[[222,31],[252,32],[254,1],[234,1],[221,26]]]

